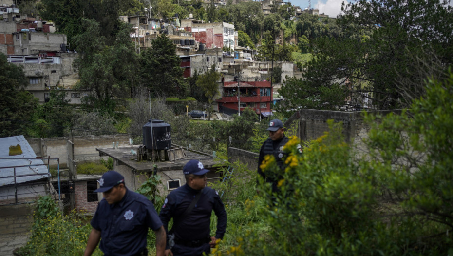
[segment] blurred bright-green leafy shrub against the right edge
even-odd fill
[[[426,95],[401,115],[368,116],[370,166],[404,212],[453,227],[453,73],[428,79]],[[382,118],[377,123],[375,118]],[[451,241],[450,241],[451,242]]]

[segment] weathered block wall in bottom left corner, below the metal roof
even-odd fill
[[[27,243],[33,224],[34,204],[0,206],[0,255],[12,256],[13,250]]]

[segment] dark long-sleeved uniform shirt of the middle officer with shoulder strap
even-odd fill
[[[227,229],[227,212],[225,211],[224,204],[219,197],[219,194],[209,188],[205,187],[201,190],[202,195],[198,202],[193,207],[189,216],[184,217],[183,213],[189,207],[192,199],[197,195],[199,190],[194,190],[185,184],[172,191],[165,199],[164,205],[160,211],[159,217],[162,220],[165,231],[168,234],[168,223],[173,217],[173,223],[179,222],[176,230],[173,229],[172,233],[175,239],[184,241],[196,241],[210,237],[210,223],[211,213],[214,210],[217,216],[217,230],[216,238],[222,239]],[[167,241],[167,248],[168,248]]]

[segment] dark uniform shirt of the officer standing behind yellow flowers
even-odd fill
[[[288,137],[286,137],[284,135],[281,139],[276,140],[276,141],[273,141],[271,138],[267,138],[267,140],[264,141],[264,143],[260,149],[260,155],[258,157],[258,174],[261,175],[266,180],[266,182],[272,183],[273,192],[278,191],[277,183],[283,177],[282,177],[282,175],[279,175],[277,177],[266,176],[264,174],[263,170],[261,170],[260,165],[263,163],[264,156],[272,155],[272,156],[274,156],[275,161],[277,162],[277,165],[283,171],[284,170],[283,159],[286,158],[286,153],[283,151],[283,147],[288,142],[288,140],[289,140]]]

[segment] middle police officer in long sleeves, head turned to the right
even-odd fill
[[[159,217],[168,231],[173,218],[173,228],[167,232],[165,255],[209,255],[217,239],[222,239],[227,228],[227,213],[219,194],[206,187],[206,173],[198,160],[190,160],[183,168],[186,184],[172,191],[165,199]],[[210,236],[211,213],[217,216],[215,236]]]

